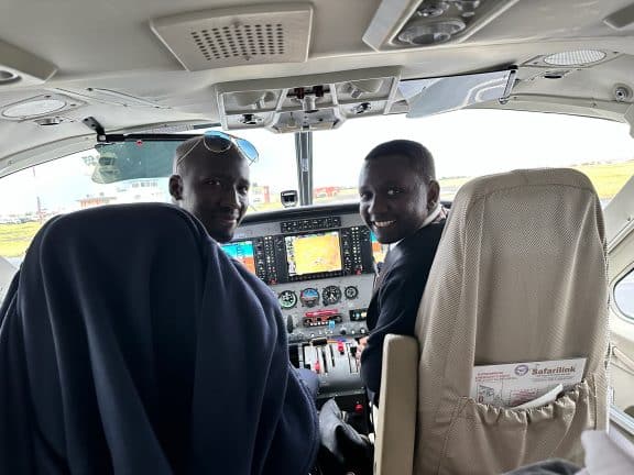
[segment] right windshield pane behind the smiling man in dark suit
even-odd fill
[[[363,157],[394,139],[420,142],[431,152],[444,200],[477,176],[573,167],[588,175],[605,206],[634,174],[634,139],[624,123],[506,110],[375,117],[314,134],[315,201],[357,199]]]

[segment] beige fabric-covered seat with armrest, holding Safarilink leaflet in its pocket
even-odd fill
[[[390,335],[375,473],[500,474],[561,457],[608,424],[603,216],[572,169],[477,178],[458,192],[416,323]],[[584,357],[581,383],[513,409],[470,397],[473,366]]]

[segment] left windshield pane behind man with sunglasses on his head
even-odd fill
[[[297,188],[294,136],[264,130],[244,131],[240,136],[255,144],[260,153],[258,162],[251,164],[249,212],[282,208],[280,191]],[[170,146],[175,147],[174,143]],[[160,147],[157,144],[151,151]],[[42,223],[56,214],[102,205],[172,201],[167,189],[170,163],[156,167],[157,172],[149,170],[143,178],[118,180],[108,175],[108,161],[100,164],[100,156],[108,158],[109,154],[100,155],[92,148],[0,180],[1,257],[18,266]]]

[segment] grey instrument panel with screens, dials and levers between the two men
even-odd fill
[[[222,248],[277,296],[292,363],[317,373],[321,397],[363,394],[357,339],[383,248],[357,206],[306,207],[248,216]],[[341,402],[341,401],[340,401]]]

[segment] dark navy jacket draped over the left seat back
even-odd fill
[[[305,475],[278,305],[168,205],[54,218],[0,309],[0,473]]]

